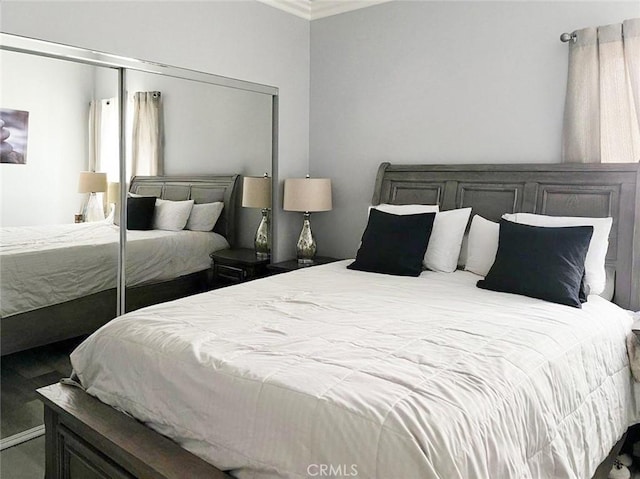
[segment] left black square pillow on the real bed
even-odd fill
[[[420,276],[435,213],[369,213],[356,260],[347,268],[398,276]]]

